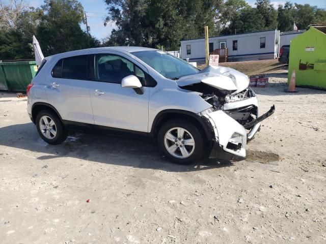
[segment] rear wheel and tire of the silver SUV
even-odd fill
[[[57,145],[67,139],[68,133],[62,121],[51,110],[41,110],[36,116],[35,124],[40,137],[48,144]]]

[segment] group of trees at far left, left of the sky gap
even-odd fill
[[[33,35],[39,40],[44,56],[100,46],[97,39],[80,27],[84,9],[78,1],[45,0],[37,9],[22,8],[23,2],[17,3],[13,0],[10,7],[0,8],[7,11],[1,15],[1,21],[6,20],[7,24],[0,25],[0,59],[34,58]]]

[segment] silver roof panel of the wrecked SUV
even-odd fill
[[[63,53],[58,53],[52,56],[57,56],[57,55],[78,55],[78,54],[83,54],[86,52],[94,52],[94,51],[125,51],[125,52],[138,52],[138,51],[154,51],[154,50],[158,50],[158,49],[154,49],[154,48],[149,48],[149,47],[133,47],[133,46],[125,46],[125,47],[97,47],[97,48],[88,48],[88,49],[80,49],[80,50],[74,50],[74,51],[69,51],[69,52],[63,52]],[[52,57],[52,56],[48,56],[48,57]]]

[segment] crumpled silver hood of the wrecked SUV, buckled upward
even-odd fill
[[[249,78],[247,75],[228,67],[209,65],[197,74],[183,76],[176,82],[181,87],[203,82],[212,87],[229,90],[232,94],[236,94],[248,87]]]

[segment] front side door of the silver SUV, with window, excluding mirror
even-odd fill
[[[95,55],[95,80],[90,90],[95,125],[131,131],[148,131],[150,87],[143,94],[121,87],[121,80],[137,76],[144,85],[145,73],[130,60],[116,54]]]

